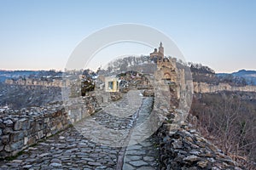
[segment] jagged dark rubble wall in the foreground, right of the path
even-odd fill
[[[160,170],[179,169],[241,169],[236,161],[201,137],[195,129],[183,125],[170,130],[160,127]]]

